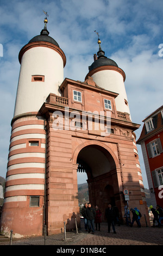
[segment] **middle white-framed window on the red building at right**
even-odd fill
[[[147,151],[149,158],[160,155],[163,152],[160,138],[149,142],[147,144]]]

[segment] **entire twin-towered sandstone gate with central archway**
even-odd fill
[[[18,56],[1,232],[42,235],[46,225],[50,235],[64,222],[68,230],[76,227],[75,218],[80,225],[77,172],[86,172],[90,202],[103,221],[108,203],[122,221],[127,204],[148,216],[134,133],[139,125],[130,118],[124,71],[98,40],[85,81],[64,79],[65,54],[44,22]]]

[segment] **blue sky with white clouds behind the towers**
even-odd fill
[[[48,31],[64,51],[64,77],[84,81],[93,54],[98,51],[97,35],[105,56],[114,59],[126,73],[126,92],[134,123],[162,105],[163,44],[162,0],[0,0],[1,138],[0,175],[5,178],[20,63],[18,53],[43,28],[48,12]],[[1,56],[0,51],[0,56]],[[141,148],[139,158],[143,181],[148,187]],[[85,182],[85,178],[84,181]]]

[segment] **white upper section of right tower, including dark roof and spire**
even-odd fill
[[[105,52],[102,51],[99,38],[98,44],[98,57],[95,54],[95,61],[89,66],[89,73],[86,75],[85,80],[87,77],[91,76],[99,87],[109,90],[110,92],[118,93],[115,99],[117,111],[130,114],[126,89],[124,87],[126,75],[122,69],[118,68],[114,60],[104,56]]]

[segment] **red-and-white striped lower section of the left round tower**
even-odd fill
[[[12,121],[1,231],[14,237],[42,235],[45,188],[44,120],[24,115]]]

